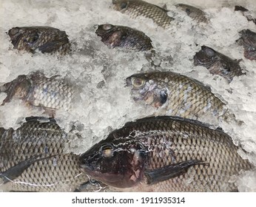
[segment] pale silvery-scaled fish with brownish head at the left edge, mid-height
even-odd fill
[[[1,105],[13,98],[24,101],[28,106],[36,106],[53,114],[56,109],[69,111],[75,96],[75,84],[59,75],[47,78],[42,72],[18,75],[16,79],[0,86],[0,92],[7,93]]]

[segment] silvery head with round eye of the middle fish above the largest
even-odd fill
[[[127,86],[132,87],[134,101],[143,100],[154,107],[160,107],[167,101],[168,90],[157,77],[153,77],[153,73],[132,75],[127,78]]]

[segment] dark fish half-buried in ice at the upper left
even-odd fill
[[[67,34],[53,27],[13,27],[8,35],[14,49],[60,55],[70,52]]]

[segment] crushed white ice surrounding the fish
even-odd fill
[[[149,1],[149,0],[147,0]],[[58,123],[68,132],[75,129],[84,139],[73,143],[73,151],[81,153],[93,143],[105,138],[113,129],[127,121],[153,115],[155,109],[132,101],[125,78],[141,71],[148,71],[149,61],[144,52],[111,50],[95,35],[95,24],[117,24],[141,30],[152,39],[156,57],[154,64],[162,71],[171,70],[198,79],[212,87],[212,91],[227,104],[241,126],[220,123],[223,130],[241,143],[250,155],[243,152],[256,164],[256,61],[243,57],[243,48],[235,41],[238,31],[250,29],[256,32],[255,24],[248,22],[235,5],[251,10],[256,16],[256,1],[164,1],[150,0],[169,9],[175,18],[171,27],[164,30],[148,18],[132,19],[112,9],[112,0],[59,0],[0,2],[0,86],[18,75],[27,75],[40,70],[47,77],[61,75],[72,77],[81,93],[66,112],[58,110]],[[178,3],[190,4],[206,12],[208,24],[192,21],[186,13],[177,10]],[[13,50],[7,35],[12,27],[50,26],[66,31],[73,43],[71,55],[57,57],[41,53],[30,54]],[[192,58],[201,45],[207,45],[228,55],[242,58],[240,66],[246,75],[234,78],[231,84],[217,75],[211,75],[204,67],[194,67]],[[3,101],[5,94],[0,94]],[[1,104],[1,103],[0,103]],[[42,109],[28,108],[21,101],[13,100],[0,106],[0,126],[17,128],[29,115],[42,115]],[[75,126],[75,127],[73,127]],[[81,141],[82,140],[82,141]],[[238,180],[240,191],[256,191],[256,172],[243,174]]]

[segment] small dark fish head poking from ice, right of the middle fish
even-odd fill
[[[229,82],[231,82],[235,76],[245,74],[240,68],[240,61],[241,60],[233,60],[206,46],[202,46],[201,50],[196,52],[194,56],[195,66],[206,67],[212,74],[221,75]]]

